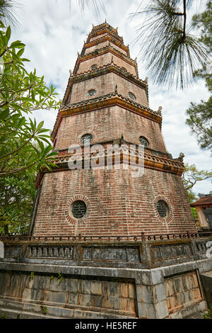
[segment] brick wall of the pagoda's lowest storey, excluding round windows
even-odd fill
[[[158,200],[170,206],[160,218]],[[83,200],[87,213],[74,219],[71,203]],[[34,235],[140,235],[196,231],[180,176],[146,169],[75,170],[45,174]]]

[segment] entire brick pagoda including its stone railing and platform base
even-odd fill
[[[93,27],[52,131],[55,168],[37,175],[30,232],[0,235],[0,317],[132,324],[211,306],[212,232],[196,230],[183,154],[167,152],[161,123],[117,29]]]

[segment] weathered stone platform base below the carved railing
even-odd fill
[[[155,269],[0,261],[0,317],[184,318],[207,309],[212,259]]]

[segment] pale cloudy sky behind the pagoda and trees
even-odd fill
[[[86,40],[92,29],[92,23],[96,26],[104,22],[105,18],[114,28],[119,27],[119,35],[123,36],[125,45],[129,44],[131,58],[138,57],[139,77],[145,79],[144,64],[139,58],[139,45],[134,42],[139,21],[138,18],[129,18],[129,13],[136,11],[141,0],[104,0],[106,13],[100,10],[99,14],[92,4],[83,14],[77,0],[17,2],[20,5],[16,9],[20,26],[13,30],[11,40],[21,40],[26,44],[25,57],[31,60],[27,63],[28,69],[36,68],[37,74],[45,75],[47,84],[57,87],[59,98],[63,98],[69,69],[73,70],[77,52],[81,52],[83,40]],[[201,8],[194,5],[190,14],[205,8],[205,0],[195,2],[201,3]],[[170,91],[153,85],[151,80],[148,84],[150,107],[158,110],[158,106],[163,106],[162,130],[168,152],[174,158],[184,152],[184,162],[196,164],[198,169],[211,169],[211,154],[199,149],[196,137],[191,135],[189,127],[185,125],[185,111],[190,102],[198,103],[209,96],[204,81],[199,81],[184,91]],[[45,120],[45,128],[52,130],[57,111],[36,111],[34,116],[37,120]],[[201,181],[194,186],[196,193],[208,193],[211,189],[211,181]]]

